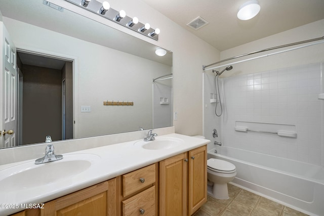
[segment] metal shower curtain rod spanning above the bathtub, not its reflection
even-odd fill
[[[313,38],[313,39],[309,39],[309,40],[303,40],[303,41],[299,41],[299,42],[294,42],[294,43],[291,43],[291,44],[281,45],[281,46],[277,46],[277,47],[271,47],[271,48],[267,48],[267,49],[264,49],[264,50],[254,51],[254,52],[251,52],[251,53],[246,53],[246,54],[242,54],[242,55],[238,55],[238,56],[234,56],[234,57],[231,57],[231,58],[228,58],[228,59],[224,59],[224,60],[215,62],[213,64],[203,65],[203,70],[215,69],[215,67],[214,68],[210,68],[210,69],[206,69],[206,68],[207,67],[210,67],[210,66],[213,66],[213,65],[216,65],[216,64],[219,64],[219,63],[222,63],[222,62],[225,62],[225,61],[232,60],[232,59],[237,59],[237,58],[240,58],[240,57],[249,56],[249,55],[252,55],[252,54],[262,53],[262,52],[265,52],[265,51],[275,50],[275,49],[279,49],[279,48],[285,48],[285,47],[290,47],[290,46],[294,46],[294,45],[305,44],[307,42],[313,42],[313,41],[322,40],[322,39],[324,39],[324,36],[317,37],[317,38]],[[315,44],[320,44],[320,43],[314,43],[312,45],[315,45]],[[309,46],[311,46],[311,45],[309,45]],[[304,47],[308,47],[308,46],[304,46]],[[300,48],[302,48],[302,47],[300,47]],[[287,50],[287,51],[290,51],[290,50]],[[262,56],[262,57],[265,57],[265,56]],[[254,58],[252,58],[252,59],[254,59]],[[246,60],[246,61],[248,61],[248,60]],[[219,67],[221,67],[221,66],[219,66]],[[218,68],[218,67],[216,67],[216,68]]]

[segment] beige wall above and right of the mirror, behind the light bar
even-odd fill
[[[63,0],[50,2],[81,14],[85,12],[84,9]],[[113,9],[123,9],[128,16],[137,16],[139,20],[150,23],[153,28],[161,29],[159,39],[155,41],[109,20],[105,23],[173,52],[173,109],[178,112],[178,120],[173,122],[176,133],[203,134],[203,65],[218,61],[219,51],[140,0],[112,0],[109,4]],[[98,18],[99,16],[93,14],[92,19],[100,20]]]

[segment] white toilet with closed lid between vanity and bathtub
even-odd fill
[[[228,199],[227,183],[236,176],[234,164],[216,158],[207,160],[208,185],[212,187],[210,195],[217,199]]]

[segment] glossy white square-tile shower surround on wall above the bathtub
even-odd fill
[[[322,68],[324,63],[317,63],[220,78],[224,114],[218,119],[205,115],[220,124],[226,146],[321,165],[324,102],[317,95],[324,92]],[[297,138],[235,132],[235,121],[293,124]]]

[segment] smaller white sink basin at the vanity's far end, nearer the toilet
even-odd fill
[[[155,138],[153,141],[139,141],[142,148],[149,150],[171,149],[184,144],[184,141],[176,138]]]

